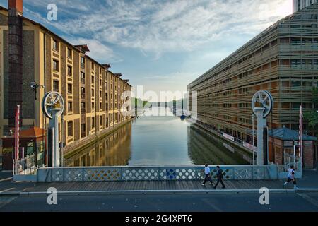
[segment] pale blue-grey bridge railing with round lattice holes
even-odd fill
[[[277,165],[226,165],[221,166],[221,169],[223,170],[225,180],[272,180],[285,177],[285,174],[279,171],[280,168]],[[211,177],[216,178],[216,166],[211,166]],[[60,167],[40,168],[37,170],[37,182],[171,181],[202,179],[204,179],[204,166]]]

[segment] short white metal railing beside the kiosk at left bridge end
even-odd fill
[[[13,175],[33,175],[37,172],[35,153],[13,160]]]

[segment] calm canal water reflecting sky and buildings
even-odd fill
[[[138,119],[73,155],[66,165],[248,165],[252,162],[249,154],[173,116],[170,110],[159,111],[167,116],[144,112]]]

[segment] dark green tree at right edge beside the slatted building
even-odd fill
[[[310,129],[312,131],[312,135],[317,134],[317,126],[318,126],[318,88],[312,89],[312,103],[314,104],[314,108],[306,111],[304,113],[305,121],[307,121]]]

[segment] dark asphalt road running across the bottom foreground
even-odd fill
[[[318,212],[318,193],[270,194],[269,205],[259,204],[260,194],[146,194],[58,196],[48,205],[46,196],[0,196],[5,211],[116,211],[116,212]]]

